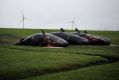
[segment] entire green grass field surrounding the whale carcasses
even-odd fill
[[[45,30],[52,32],[58,30]],[[17,46],[38,29],[0,29],[0,80],[119,80],[119,31],[89,31],[116,46]]]

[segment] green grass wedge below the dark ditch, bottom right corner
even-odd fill
[[[119,80],[119,62],[23,80]]]

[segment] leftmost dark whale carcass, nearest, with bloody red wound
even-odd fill
[[[49,33],[37,33],[31,36],[28,36],[20,42],[16,43],[17,45],[29,45],[29,46],[48,46],[49,44],[54,47],[67,47],[68,42],[64,39],[57,37]]]

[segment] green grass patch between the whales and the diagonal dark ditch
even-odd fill
[[[0,75],[9,79],[84,67],[108,60],[100,56],[0,48]],[[3,55],[4,54],[4,55]]]

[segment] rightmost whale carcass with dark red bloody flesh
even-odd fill
[[[90,45],[109,45],[110,44],[110,39],[98,36],[98,35],[92,35],[88,34],[87,31],[85,33],[80,33],[80,31],[75,28],[76,32],[72,32],[72,34],[87,38],[89,40]]]

